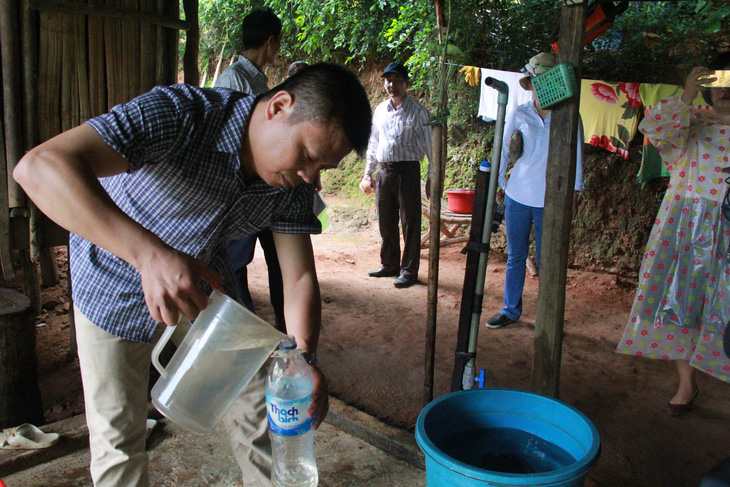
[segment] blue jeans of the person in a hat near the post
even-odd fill
[[[530,227],[535,224],[537,267],[540,267],[543,208],[527,206],[504,196],[504,218],[507,227],[507,271],[504,278],[504,308],[500,313],[517,321],[522,314],[522,290],[525,287],[527,254],[530,250]]]

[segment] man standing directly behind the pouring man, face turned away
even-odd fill
[[[258,95],[269,90],[269,80],[264,74],[267,66],[276,61],[281,48],[281,20],[271,10],[254,10],[241,24],[241,55],[215,81],[216,88],[230,88],[247,95]],[[256,250],[256,239],[264,251],[269,269],[269,296],[274,308],[276,327],[286,331],[284,320],[284,290],[281,267],[276,255],[271,230],[263,230],[242,240],[228,243],[228,254],[233,262],[236,276],[236,291],[243,304],[255,311],[248,289],[246,266],[251,263]]]

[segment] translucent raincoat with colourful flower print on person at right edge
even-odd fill
[[[721,205],[730,126],[672,97],[657,103],[639,129],[661,154],[670,180],[616,351],[688,360],[727,382],[722,334],[730,320],[730,222]]]

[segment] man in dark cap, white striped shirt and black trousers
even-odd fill
[[[431,175],[431,127],[426,125],[428,110],[409,97],[408,69],[391,63],[383,72],[388,100],[373,114],[365,176],[360,189],[370,194],[375,189],[380,236],[379,269],[370,277],[397,277],[397,288],[418,282],[421,257],[421,161],[428,157],[426,196]],[[373,179],[373,172],[380,170]],[[398,219],[403,227],[404,249],[401,258]]]

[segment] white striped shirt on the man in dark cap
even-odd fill
[[[426,125],[426,107],[410,96],[393,108],[390,100],[377,106],[373,113],[373,130],[368,142],[365,174],[372,174],[381,162],[418,161],[428,157],[431,174],[431,127]]]

